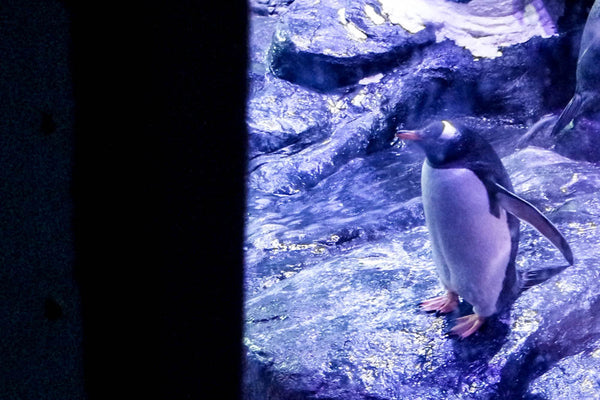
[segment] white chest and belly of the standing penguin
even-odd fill
[[[490,213],[483,183],[466,168],[423,164],[421,190],[433,257],[442,284],[481,316],[496,312],[511,238],[506,211]]]

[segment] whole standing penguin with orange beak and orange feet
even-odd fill
[[[473,314],[457,319],[450,334],[466,338],[486,318],[510,304],[521,289],[515,267],[522,219],[556,246],[569,265],[564,236],[533,205],[513,192],[493,147],[476,132],[438,121],[396,133],[425,152],[421,192],[433,259],[446,294],[421,303],[442,314],[457,309],[459,296]]]

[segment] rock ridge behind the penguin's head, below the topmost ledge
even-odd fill
[[[286,18],[304,6],[306,1],[294,2]],[[256,34],[270,35],[273,25],[261,21]],[[277,40],[275,34],[275,47]],[[478,117],[473,119],[477,126],[493,121],[499,135],[515,129],[523,134],[526,124],[547,109],[547,83],[553,78],[547,65],[557,57],[549,49],[561,39],[535,37],[504,49],[502,57],[480,60],[453,41],[429,43],[410,60],[393,56],[401,66],[329,93],[270,72],[260,75],[257,71],[263,69],[256,66],[269,62],[266,41],[253,43],[261,45],[253,47],[251,58],[249,182],[259,190],[292,194],[314,186],[355,157],[385,148],[398,128],[417,128],[434,119]],[[338,57],[336,62],[356,71],[353,57]],[[315,75],[299,65],[293,70]]]

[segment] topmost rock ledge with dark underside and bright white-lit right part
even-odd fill
[[[504,48],[555,34],[562,8],[560,1],[296,0],[275,34],[271,69],[282,79],[330,91],[385,73],[433,42],[451,40],[471,58],[496,58]]]

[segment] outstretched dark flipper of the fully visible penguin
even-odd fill
[[[503,186],[494,183],[495,196],[502,208],[515,217],[527,222],[542,235],[546,236],[557,249],[560,250],[569,265],[573,265],[573,252],[565,237],[556,229],[556,227],[531,203],[523,200],[516,194],[508,191]]]

